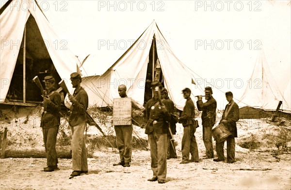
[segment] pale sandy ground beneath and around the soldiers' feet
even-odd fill
[[[236,138],[236,142],[249,133],[255,134],[255,131],[266,133],[266,131],[268,132],[266,129],[274,128],[274,126],[264,123],[263,120],[252,120],[252,125],[249,125],[249,121],[244,121],[242,124],[238,127],[239,138]],[[37,126],[37,124],[35,125]],[[11,126],[14,125],[10,124],[10,131],[13,129]],[[20,126],[20,129],[24,130],[25,127],[21,128]],[[37,146],[35,141],[41,138],[41,129],[39,127],[32,127],[32,129],[30,130],[38,134],[33,140],[34,145]],[[213,162],[212,159],[203,159],[199,163],[179,164],[181,161],[182,127],[178,125],[177,129],[175,140],[178,142],[176,146],[178,158],[167,160],[167,178],[164,184],[158,184],[157,181],[147,181],[152,177],[149,151],[134,149],[130,167],[124,168],[122,166],[113,167],[113,163],[119,162],[116,149],[103,148],[101,151],[95,151],[93,158],[88,158],[89,173],[72,179],[69,179],[72,172],[71,159],[59,159],[60,170],[55,172],[42,171],[43,167],[46,166],[45,158],[0,159],[0,190],[291,190],[291,154],[287,152],[285,154],[274,154],[272,150],[262,149],[249,151],[236,145],[235,163],[228,164]],[[91,133],[97,132],[92,129]],[[146,138],[144,129],[139,127],[134,127],[133,135]],[[202,158],[205,155],[202,127],[197,128],[195,136],[198,143],[199,157]],[[261,146],[262,143],[266,143],[266,141],[262,141]],[[215,143],[213,142],[213,144]],[[17,147],[23,145],[22,143]],[[44,147],[40,146],[40,148]],[[214,154],[216,154],[215,151]]]

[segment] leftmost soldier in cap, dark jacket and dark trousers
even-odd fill
[[[43,97],[44,112],[42,113],[40,127],[43,129],[44,143],[47,153],[47,167],[45,172],[58,169],[58,157],[56,151],[57,135],[60,127],[61,95],[55,91],[55,79],[45,77],[47,97]]]

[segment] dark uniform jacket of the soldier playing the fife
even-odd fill
[[[202,126],[212,127],[215,124],[216,100],[211,96],[205,103],[202,100],[197,101],[197,108],[202,111]]]

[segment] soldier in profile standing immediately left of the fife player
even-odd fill
[[[182,161],[180,164],[187,164],[190,162],[189,154],[191,153],[191,161],[199,162],[198,147],[194,133],[196,126],[194,126],[195,106],[190,97],[191,90],[185,88],[182,90],[183,96],[186,99],[186,104],[183,108],[181,117],[178,118],[178,122],[183,124],[184,134],[182,138]]]

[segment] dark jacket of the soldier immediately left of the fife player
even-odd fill
[[[191,97],[189,97],[185,103],[183,112],[179,120],[182,122],[183,127],[186,127],[188,125],[194,124],[194,117],[195,117],[195,106],[193,100],[191,99]]]

